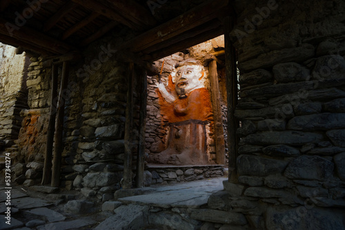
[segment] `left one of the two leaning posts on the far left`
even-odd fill
[[[50,94],[50,113],[46,142],[46,156],[44,158],[43,178],[41,182],[42,185],[50,183],[52,177],[52,145],[54,143],[55,118],[57,113],[57,107],[54,105],[54,100],[57,97],[57,79],[57,65],[52,65],[52,92]]]

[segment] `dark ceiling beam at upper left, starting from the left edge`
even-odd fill
[[[62,41],[47,36],[37,30],[32,30],[26,26],[8,30],[8,26],[10,25],[16,26],[15,23],[0,19],[0,34],[13,37],[24,43],[32,44],[32,48],[39,47],[41,50],[47,50],[53,54],[65,54],[68,51],[75,50],[75,48],[72,48],[72,46]]]

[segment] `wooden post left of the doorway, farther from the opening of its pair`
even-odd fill
[[[123,189],[132,188],[132,140],[133,140],[133,103],[134,103],[134,63],[129,64],[127,79],[127,103],[126,103],[126,125],[125,125],[125,157],[124,157],[124,180],[122,182]]]

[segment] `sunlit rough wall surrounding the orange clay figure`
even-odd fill
[[[186,50],[186,54],[179,52],[167,56],[164,59],[155,61],[156,67],[161,70],[162,62],[164,61],[163,72],[161,74],[161,81],[167,85],[169,74],[175,70],[175,64],[179,61],[183,61],[188,58],[199,59],[201,63],[204,61],[204,56],[215,52],[216,50],[222,50],[224,48],[224,38],[219,36],[216,39],[206,41],[199,45],[195,45],[192,48]],[[224,138],[226,140],[226,78],[224,72],[224,66],[218,66],[219,74],[219,89],[221,100],[221,112],[224,124]],[[208,65],[206,64],[205,76],[207,76],[204,81],[206,88],[210,90],[210,83],[208,78]],[[159,106],[159,96],[157,95],[156,83],[159,81],[159,76],[148,76],[148,105],[147,105],[147,120],[146,120],[146,154],[155,154],[166,149],[166,136],[168,132],[168,125],[162,122],[160,106]],[[210,160],[215,160],[215,141],[213,134],[213,122],[208,126],[208,154],[210,154]],[[226,158],[228,156],[228,151],[226,149]]]

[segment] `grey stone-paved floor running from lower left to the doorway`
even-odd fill
[[[210,194],[223,189],[223,180],[226,180],[226,178],[181,182],[175,185],[155,185],[149,189],[143,189],[143,191],[147,191],[148,194],[139,193],[141,195],[137,196],[130,195],[132,191],[121,191],[122,198],[119,198],[117,201],[108,201],[108,208],[106,209],[104,208],[106,205],[103,205],[102,210],[101,204],[96,204],[95,207],[88,209],[86,213],[72,214],[66,213],[66,202],[68,202],[68,200],[82,200],[83,198],[77,194],[71,192],[69,194],[43,194],[39,191],[44,191],[44,187],[30,187],[26,189],[19,186],[11,189],[10,225],[6,224],[7,220],[5,216],[5,192],[7,189],[1,189],[0,229],[109,229],[107,227],[108,224],[112,225],[116,220],[121,219],[121,215],[118,215],[119,213],[115,211],[114,214],[114,209],[117,208],[119,211],[120,206],[124,211],[126,211],[126,207],[128,207],[128,209],[132,209],[131,207],[140,207],[143,212],[148,211],[148,207],[150,207],[150,209],[152,209],[152,207],[157,207],[157,209],[171,207],[202,207],[207,204]],[[55,190],[51,189],[51,191],[48,192],[52,191]],[[124,218],[128,219],[128,215]],[[126,224],[129,221],[127,219],[123,220],[124,218],[121,219],[121,224]],[[132,216],[130,216],[130,218],[132,218]],[[117,225],[117,227],[120,225]]]

